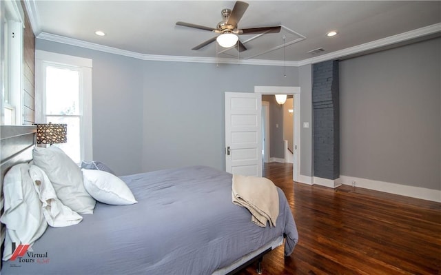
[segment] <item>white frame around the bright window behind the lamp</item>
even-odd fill
[[[74,57],[66,54],[35,51],[35,121],[45,123],[45,66],[61,65],[75,67],[81,72],[80,88],[80,139],[82,160],[92,160],[92,59]],[[69,128],[68,128],[69,131]]]

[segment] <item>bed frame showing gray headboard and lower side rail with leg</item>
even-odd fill
[[[30,126],[12,126],[12,125],[1,125],[0,126],[0,171],[1,171],[1,181],[0,181],[0,214],[3,214],[4,198],[3,198],[3,178],[13,165],[17,163],[26,163],[32,160],[32,149],[35,145],[35,134],[37,128],[33,125]],[[6,236],[6,227],[0,223],[1,230],[1,248],[0,248],[0,270],[1,270],[1,258],[3,258],[3,248]],[[229,267],[218,270],[214,274],[236,274],[244,267],[257,262],[256,271],[258,274],[262,273],[261,263],[263,256],[271,251],[273,247],[282,245],[283,238],[274,241],[268,247],[263,247],[260,251],[256,251],[248,257],[234,263]]]

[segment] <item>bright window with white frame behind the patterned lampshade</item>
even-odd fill
[[[54,144],[76,163],[92,160],[92,61],[35,52],[35,120],[65,123],[68,142]]]

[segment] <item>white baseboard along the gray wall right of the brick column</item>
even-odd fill
[[[441,190],[402,185],[399,183],[387,183],[385,181],[374,181],[371,179],[357,178],[355,176],[340,176],[340,179],[338,179],[339,183],[351,186],[353,181],[355,181],[356,187],[441,203]]]

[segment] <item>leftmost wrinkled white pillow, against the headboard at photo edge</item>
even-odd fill
[[[3,180],[4,212],[0,221],[6,225],[3,261],[12,256],[12,243],[32,245],[48,227],[41,201],[29,175],[28,163],[11,167]]]

